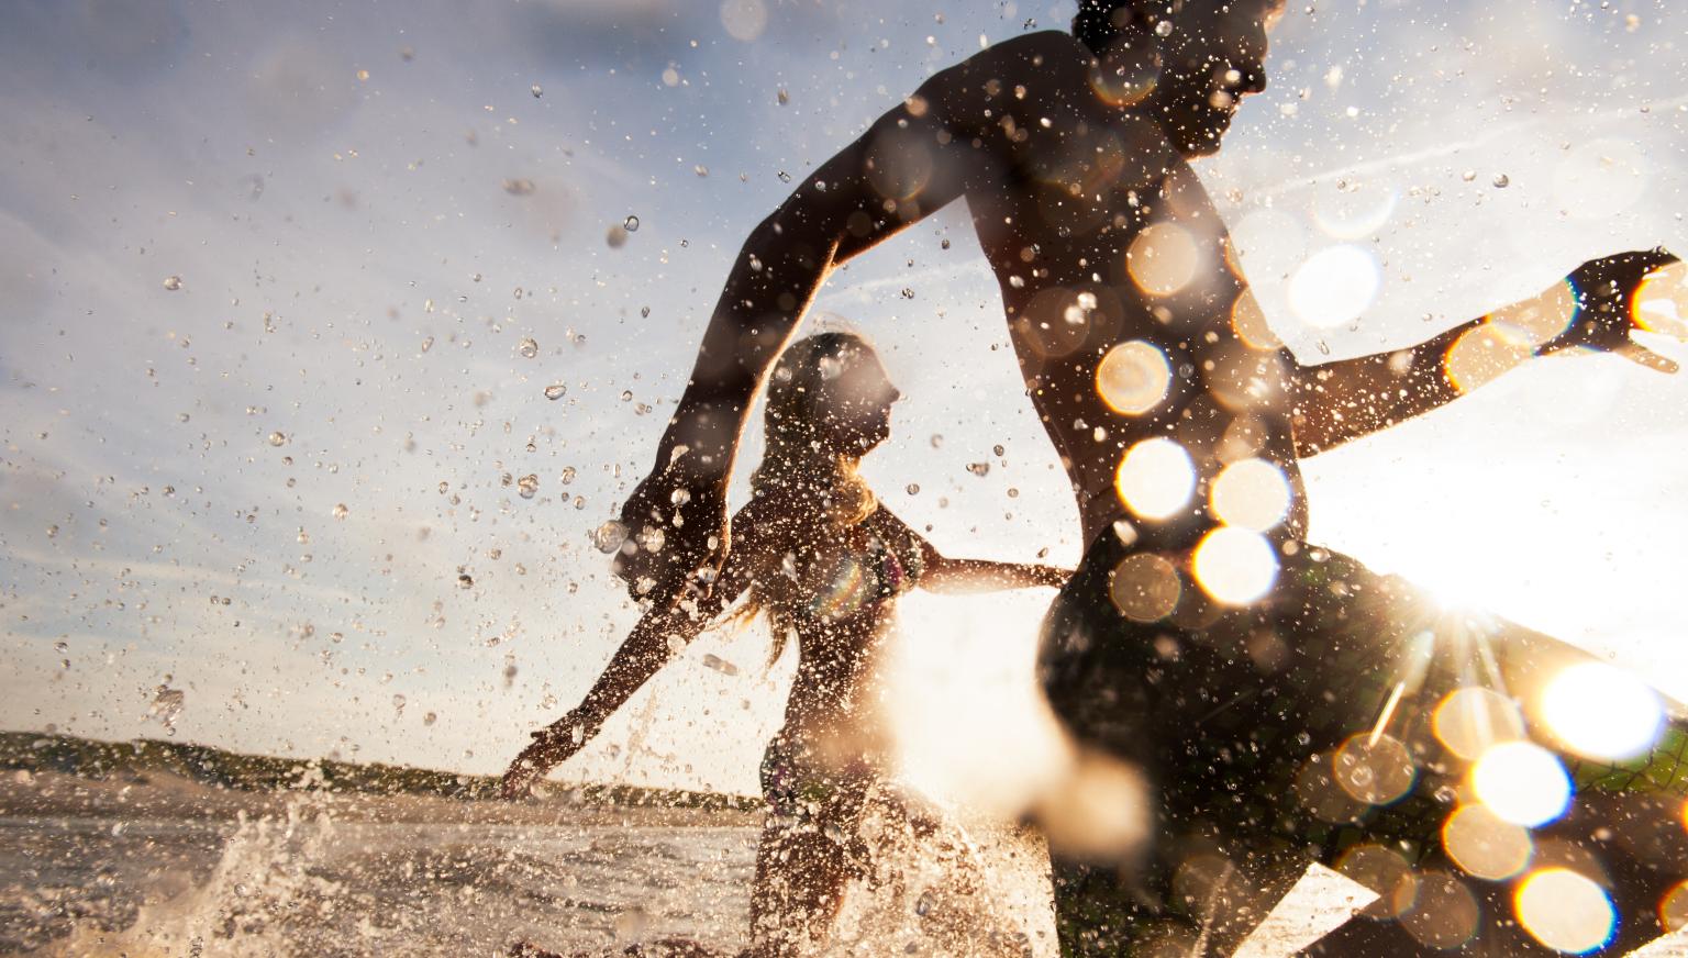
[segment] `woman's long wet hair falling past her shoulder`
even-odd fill
[[[817,332],[787,346],[768,379],[765,450],[749,477],[751,496],[773,498],[788,514],[815,516],[817,540],[861,523],[879,506],[859,472],[863,449],[844,442],[836,427],[837,395],[830,386],[868,359],[878,359],[878,353],[861,336]],[[756,612],[768,616],[773,665],[785,653],[793,622],[773,594],[751,582],[731,619],[749,621]]]

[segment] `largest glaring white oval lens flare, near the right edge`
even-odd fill
[[[1593,759],[1631,759],[1664,730],[1658,693],[1634,675],[1605,663],[1578,663],[1541,690],[1541,717],[1573,752]]]

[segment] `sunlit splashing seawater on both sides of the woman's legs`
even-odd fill
[[[599,955],[680,938],[731,955],[748,945],[758,815],[346,821],[314,798],[235,820],[172,811],[0,816],[0,953],[503,955],[532,941]],[[358,815],[378,816],[380,805]],[[849,889],[827,953],[1053,953],[1035,840],[981,843],[952,826],[923,845],[881,845],[874,884]]]

